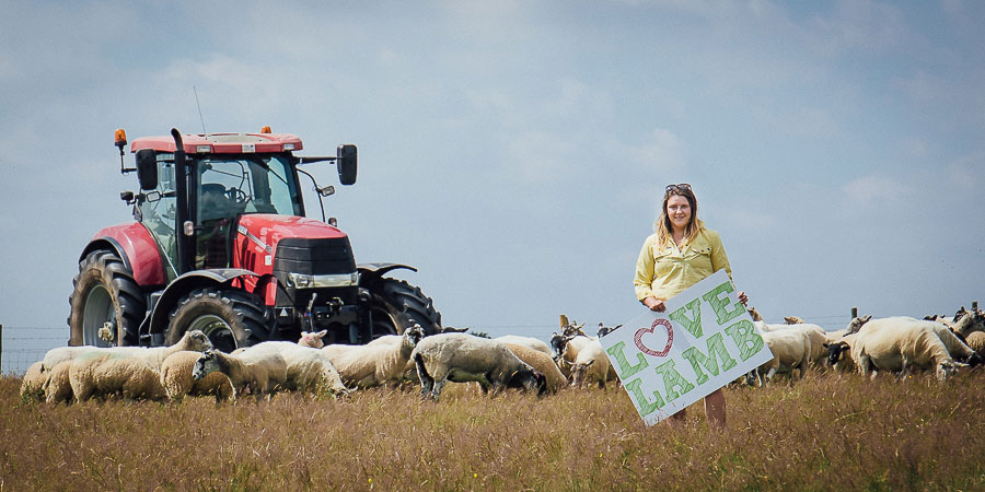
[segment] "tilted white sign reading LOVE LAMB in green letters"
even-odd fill
[[[600,340],[652,425],[773,359],[725,270]]]

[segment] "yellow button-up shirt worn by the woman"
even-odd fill
[[[706,227],[680,249],[673,239],[660,247],[654,233],[636,260],[636,298],[669,300],[722,268],[731,279],[732,267],[717,232]]]

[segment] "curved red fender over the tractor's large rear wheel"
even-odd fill
[[[143,224],[131,222],[102,229],[82,249],[79,261],[96,249],[115,253],[141,288],[164,285],[164,263],[158,244]]]

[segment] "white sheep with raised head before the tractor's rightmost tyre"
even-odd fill
[[[414,325],[404,330],[399,343],[332,344],[322,348],[322,352],[332,360],[346,386],[369,388],[387,383],[397,386],[404,380],[410,352],[421,338],[424,329]]]

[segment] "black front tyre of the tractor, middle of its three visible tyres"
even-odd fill
[[[266,307],[259,297],[231,288],[196,289],[178,301],[164,331],[164,343],[177,343],[188,330],[201,330],[217,350],[230,353],[263,341]]]

